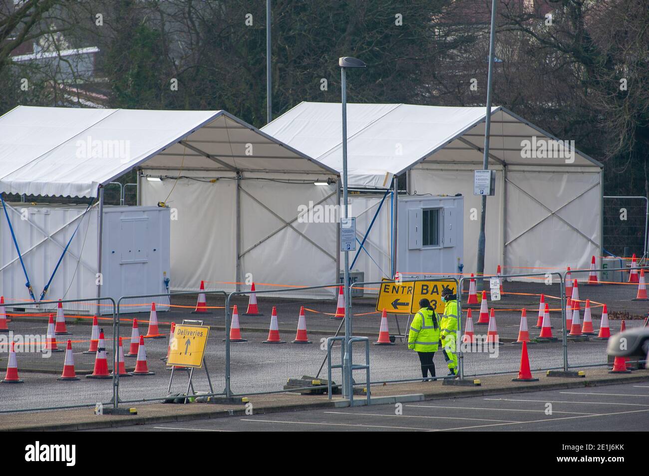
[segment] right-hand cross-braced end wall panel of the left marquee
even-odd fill
[[[323,175],[244,174],[242,281],[297,286],[337,281],[336,185],[314,185],[315,180]]]

